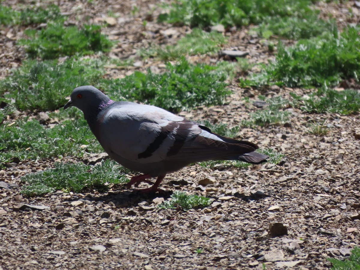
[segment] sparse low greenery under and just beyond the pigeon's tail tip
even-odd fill
[[[267,163],[278,164],[281,159],[284,157],[283,154],[275,152],[274,149],[265,148],[265,149],[257,149],[256,152],[268,155]],[[234,168],[248,168],[253,166],[251,163],[244,162],[244,161],[237,161],[237,160],[210,160],[210,161],[203,161],[198,163],[201,167],[204,168],[214,168],[217,165],[224,165],[226,167],[234,167]]]

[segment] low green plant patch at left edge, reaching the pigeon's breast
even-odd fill
[[[0,126],[0,162],[103,152],[86,121],[66,120],[52,129],[27,118]]]

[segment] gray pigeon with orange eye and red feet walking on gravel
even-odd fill
[[[100,145],[120,165],[139,171],[127,184],[141,182],[159,189],[165,175],[195,162],[208,160],[241,160],[262,163],[269,156],[254,152],[258,147],[249,141],[220,136],[196,122],[171,112],[133,102],[115,102],[94,86],[76,87],[64,109],[75,106],[84,113],[90,130]]]

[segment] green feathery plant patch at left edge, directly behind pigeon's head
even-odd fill
[[[26,60],[0,81],[0,100],[19,110],[54,110],[62,107],[76,86],[96,85],[103,75],[96,59]]]

